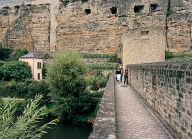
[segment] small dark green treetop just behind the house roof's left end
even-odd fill
[[[11,61],[18,61],[21,56],[24,56],[28,53],[26,48],[24,49],[16,49],[10,57]]]

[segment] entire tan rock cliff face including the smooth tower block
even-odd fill
[[[190,0],[15,1],[0,0],[4,47],[118,52],[124,64],[164,61],[166,49],[192,48]]]

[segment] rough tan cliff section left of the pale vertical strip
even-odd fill
[[[49,5],[22,4],[9,8],[8,16],[0,16],[0,42],[8,48],[49,51],[49,10]]]

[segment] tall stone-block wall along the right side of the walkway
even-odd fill
[[[192,60],[127,65],[129,84],[185,139],[192,138]]]

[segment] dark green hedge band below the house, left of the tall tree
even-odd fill
[[[25,82],[0,82],[0,97],[16,97],[24,99],[34,99],[37,94],[43,95],[41,103],[48,103],[50,92],[47,82],[44,80],[35,81],[27,79]]]

